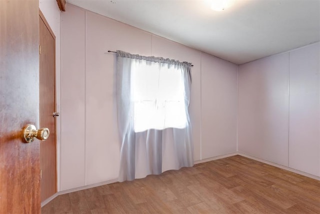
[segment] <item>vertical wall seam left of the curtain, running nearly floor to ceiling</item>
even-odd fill
[[[86,11],[84,12],[84,185],[86,185]]]

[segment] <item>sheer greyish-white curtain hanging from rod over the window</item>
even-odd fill
[[[192,166],[190,63],[116,53],[119,181]]]

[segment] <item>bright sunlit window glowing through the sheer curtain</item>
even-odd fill
[[[134,131],[185,128],[186,108],[181,68],[158,62],[131,62]]]

